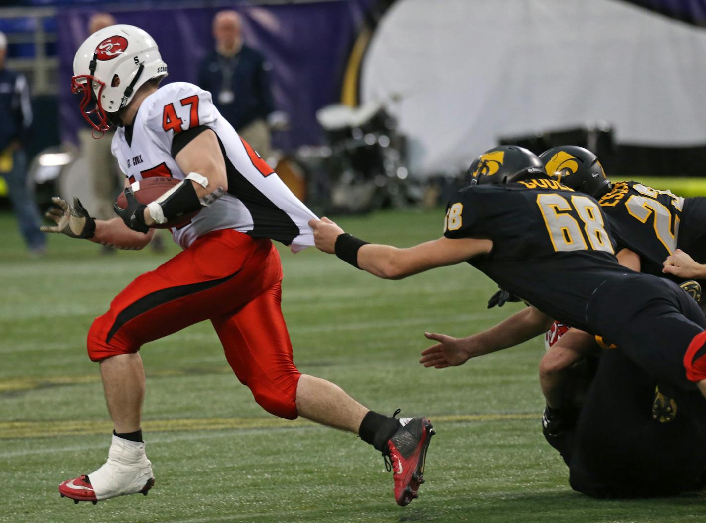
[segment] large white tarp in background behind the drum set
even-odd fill
[[[390,99],[421,174],[498,136],[608,121],[618,142],[706,143],[706,30],[614,0],[398,0],[362,101]]]

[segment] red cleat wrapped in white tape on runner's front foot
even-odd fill
[[[59,485],[61,497],[75,503],[97,501],[148,491],[155,484],[152,463],[145,455],[145,443],[128,441],[113,435],[108,460],[88,476],[69,479]]]

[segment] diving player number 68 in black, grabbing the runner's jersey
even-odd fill
[[[323,219],[310,222],[316,246],[381,278],[468,262],[544,313],[545,321],[603,336],[650,379],[692,391],[694,404],[706,405],[693,393],[694,383],[706,393],[706,358],[698,351],[684,358],[706,319],[676,284],[617,263],[596,200],[551,180],[537,156],[520,147],[481,154],[469,173],[470,185],[448,204],[438,240],[407,249],[371,245]],[[452,356],[442,347],[428,362],[443,367],[465,361]],[[706,422],[706,416],[683,419]],[[620,456],[616,451],[616,460]],[[590,492],[595,474],[590,462],[586,467],[582,488]]]

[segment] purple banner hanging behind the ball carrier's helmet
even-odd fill
[[[350,47],[374,3],[331,0],[234,6],[243,18],[245,42],[273,65],[275,106],[290,119],[289,130],[275,140],[282,149],[321,142],[315,113],[339,99]],[[220,8],[153,8],[112,15],[117,23],[137,25],[155,38],[169,66],[165,82],[196,83],[198,64],[213,49],[211,21],[217,11]],[[88,18],[95,12],[95,8],[62,9],[58,16],[59,111],[63,137],[71,141],[75,141],[76,130],[87,125],[80,116],[78,97],[71,94],[73,55],[88,37]]]

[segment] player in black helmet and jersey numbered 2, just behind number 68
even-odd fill
[[[706,198],[684,199],[635,181],[611,183],[597,156],[575,145],[554,147],[540,154],[539,159],[554,180],[598,200],[609,219],[621,264],[654,276],[671,276],[664,274],[663,264],[677,245],[706,259]],[[699,282],[683,282],[685,278],[676,275],[672,279],[681,282],[699,301]],[[706,285],[706,281],[702,283]],[[560,405],[565,371],[589,352],[593,343],[592,336],[572,329],[542,359],[541,381],[548,420],[561,423],[565,415]],[[664,387],[657,390],[654,415],[669,419],[669,412],[661,412],[665,405],[663,393]],[[669,403],[668,400],[666,408],[671,408]]]

